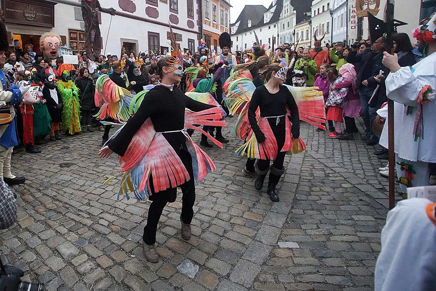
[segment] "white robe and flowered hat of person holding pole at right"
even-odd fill
[[[421,26],[414,36],[432,32],[435,42],[436,18]],[[418,36],[420,37],[420,36]],[[429,163],[436,163],[436,53],[412,67],[402,67],[386,78],[386,94],[394,100],[395,160],[401,191],[406,187],[429,185]],[[388,148],[388,120],[380,145]]]

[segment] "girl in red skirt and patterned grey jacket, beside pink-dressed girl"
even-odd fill
[[[335,86],[338,83],[344,81],[344,79],[339,76],[339,72],[335,68],[330,68],[327,71],[328,81],[330,81],[331,86]],[[328,98],[326,101],[327,116],[326,119],[331,120],[335,124],[335,131],[330,132],[328,135],[330,138],[338,138],[342,135],[341,123],[343,123],[343,107],[345,105],[345,97],[348,94],[348,88],[333,89],[328,93]]]

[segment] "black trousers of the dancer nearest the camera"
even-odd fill
[[[179,157],[185,165],[189,173],[189,181],[180,186],[182,189],[182,215],[181,219],[183,223],[190,224],[192,217],[194,217],[194,202],[195,202],[195,184],[194,174],[192,170],[192,158],[191,155],[185,149],[181,149]],[[144,227],[144,234],[142,239],[146,244],[154,244],[156,242],[157,224],[159,223],[162,210],[168,202],[174,202],[177,196],[177,188],[170,188],[158,193],[154,192],[153,179],[150,177],[150,188],[152,195],[149,200],[152,201],[150,208],[148,209],[147,225]]]

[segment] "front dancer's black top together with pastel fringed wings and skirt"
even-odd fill
[[[215,169],[183,128],[196,129],[193,124],[224,126],[224,121],[213,121],[221,119],[223,113],[219,107],[194,101],[177,88],[171,94],[162,85],[135,97],[131,103],[134,115],[108,145],[124,163],[118,198],[125,194],[128,199],[128,193],[133,192],[138,200],[169,194],[170,200],[175,199],[176,187],[189,181],[191,174],[200,182]],[[200,112],[185,113],[185,107]],[[187,166],[179,158],[181,151],[189,153],[192,165]],[[193,173],[188,173],[189,167]]]

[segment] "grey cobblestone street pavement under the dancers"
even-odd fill
[[[18,222],[0,232],[1,258],[48,291],[372,290],[387,214],[383,163],[358,134],[301,131],[307,150],[286,158],[278,203],[243,176],[239,141],[207,149],[217,171],[197,187],[193,236],[181,238],[179,197],[161,217],[156,264],[141,246],[149,203],[117,202],[118,180],[102,185],[119,166],[98,159],[101,132],[64,137],[42,154],[17,150],[13,169],[27,181],[14,186]],[[177,269],[186,259],[199,267],[193,278]]]

